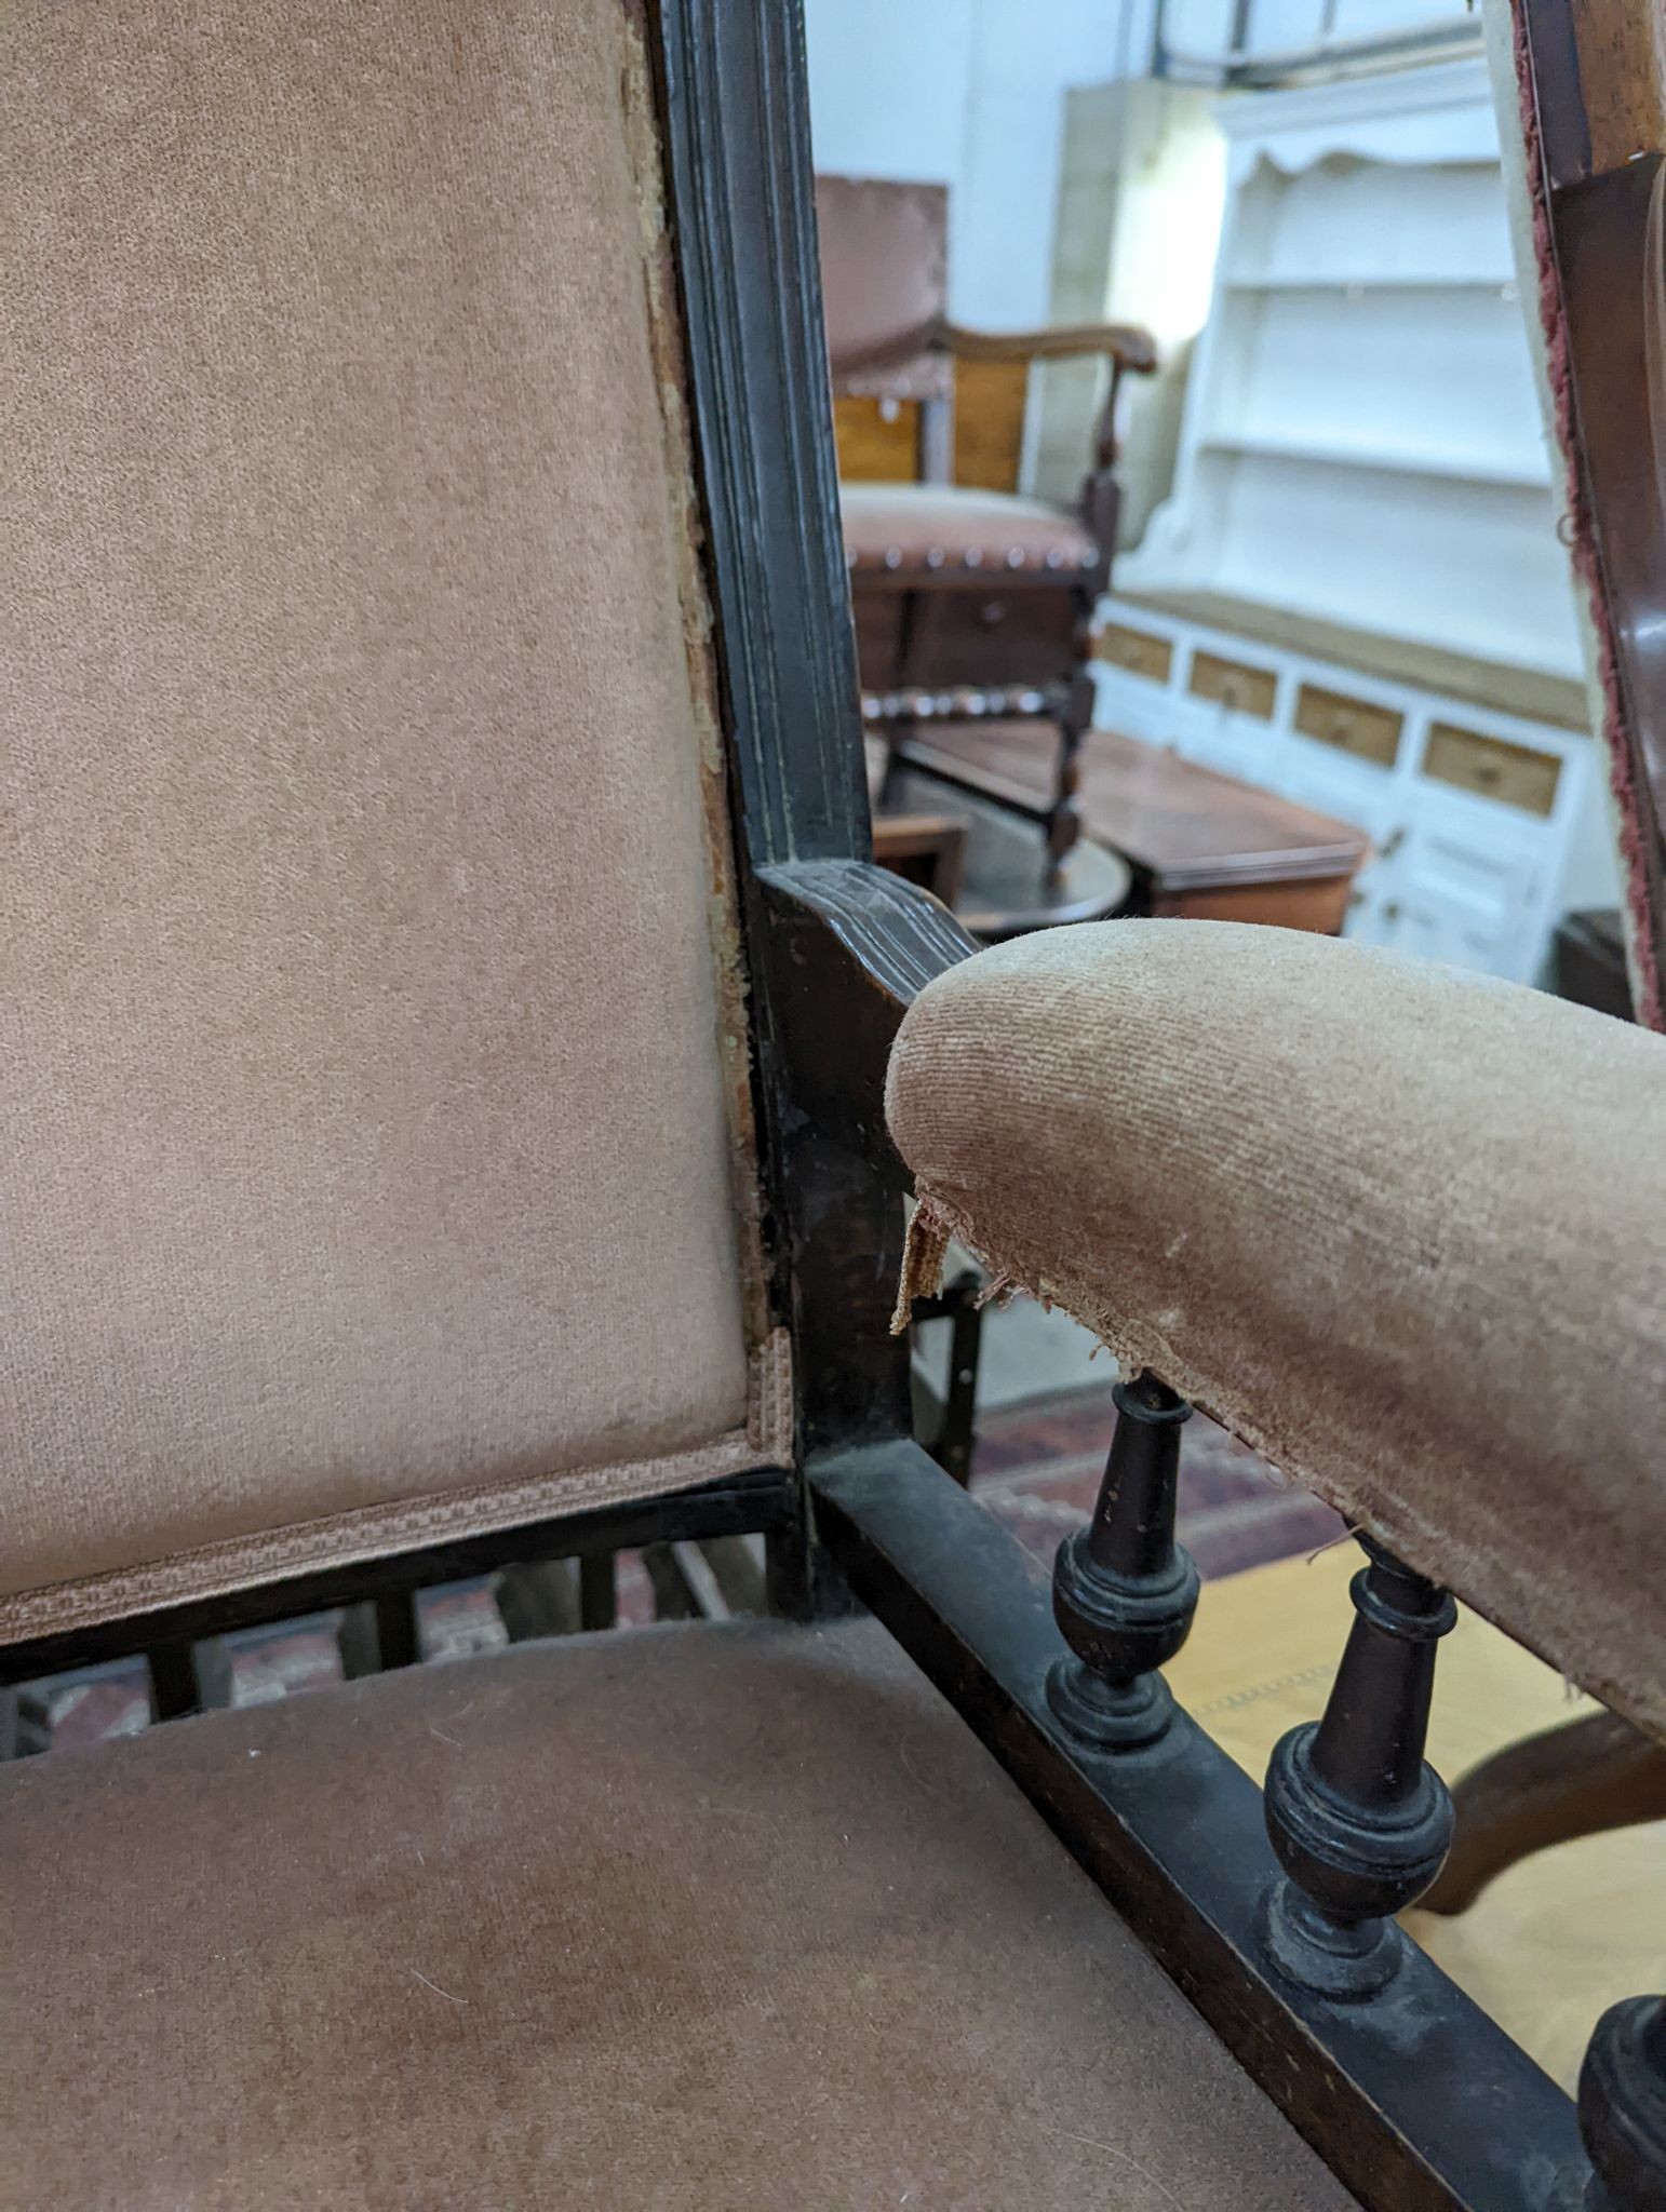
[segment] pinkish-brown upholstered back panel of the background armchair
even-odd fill
[[[949,356],[909,347],[949,307],[949,188],[816,177],[816,230],[834,392],[954,398]]]

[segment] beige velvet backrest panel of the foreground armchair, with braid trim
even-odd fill
[[[4,15],[0,1635],[759,1458],[633,22]]]

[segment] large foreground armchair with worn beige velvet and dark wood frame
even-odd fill
[[[788,0],[4,35],[0,1679],[383,1672],[0,1772],[0,2197],[1657,2208],[1662,2006],[1580,2126],[1392,1913],[1445,1584],[1662,1725],[1666,1042],[872,867]],[[1051,1588],[907,1436],[949,1225],[1126,1360]],[[1370,1553],[1266,1805],[1181,1389]],[[741,1531],[770,1619],[400,1663]]]

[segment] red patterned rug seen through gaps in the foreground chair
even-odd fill
[[[985,1413],[978,1427],[971,1489],[1027,1551],[1051,1566],[1060,1537],[1093,1511],[1115,1411],[1111,1385]],[[1330,1506],[1277,1482],[1243,1444],[1195,1413],[1179,1462],[1179,1540],[1204,1577],[1316,1551],[1343,1533]],[[639,1553],[617,1559],[619,1626],[655,1619],[655,1595]],[[423,1590],[418,1599],[423,1657],[429,1663],[507,1644],[491,1577]],[[281,1621],[226,1639],[230,1701],[257,1705],[341,1681],[334,1613]],[[24,1741],[73,1750],[150,1725],[144,1663],[122,1661],[24,1692]]]

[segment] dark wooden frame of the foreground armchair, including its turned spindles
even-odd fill
[[[1659,2008],[1639,2000],[1597,2042],[1584,2099],[1597,2183],[1573,2101],[1385,1918],[1431,1878],[1449,1823],[1423,1763],[1449,1599],[1372,1555],[1325,1721],[1285,1739],[1263,1803],[1157,1672],[1197,1601],[1173,1542],[1184,1405],[1153,1378],[1120,1387],[1100,1511],[1051,1590],[909,1440],[907,1356],[889,1334],[903,1170],[885,1060],[912,995],[971,947],[870,860],[799,9],[659,0],[650,22],[723,641],[772,1298],[794,1349],[792,1464],[13,1646],[4,1679],[365,1599],[389,1626],[387,1657],[409,1659],[400,1619],[427,1582],[761,1531],[777,1604],[808,1615],[850,1590],[874,1610],[1372,2212],[1659,2205]]]

